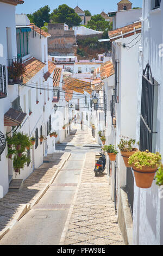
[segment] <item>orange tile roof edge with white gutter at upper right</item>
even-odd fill
[[[117,28],[113,31],[109,31],[108,35],[110,41],[117,40],[119,38],[127,38],[128,36],[141,33],[141,21],[132,23],[128,26]]]

